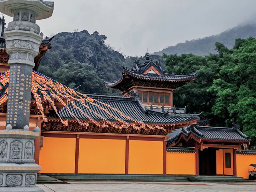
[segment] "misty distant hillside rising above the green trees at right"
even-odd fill
[[[209,53],[216,54],[215,42],[224,44],[227,48],[231,49],[237,38],[256,38],[256,24],[246,24],[236,26],[230,30],[226,30],[218,35],[212,35],[197,40],[186,41],[184,43],[178,43],[176,46],[169,46],[160,52],[154,54],[161,55],[165,54],[183,54],[192,53],[195,55],[207,55]]]

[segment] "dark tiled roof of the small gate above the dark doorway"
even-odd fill
[[[173,130],[169,134],[167,140],[168,145],[176,145],[180,139],[189,140],[194,138],[198,141],[218,141],[218,142],[250,142],[248,136],[240,132],[238,128],[226,128],[226,127],[209,127],[209,126],[198,126],[190,125],[186,128],[180,128]]]

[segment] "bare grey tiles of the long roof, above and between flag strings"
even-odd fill
[[[142,121],[148,124],[159,124],[159,125],[164,125],[164,124],[176,124],[180,122],[188,122],[192,120],[198,120],[199,115],[198,114],[191,114],[191,115],[174,115],[170,114],[167,115],[166,117],[164,116],[164,113],[162,112],[156,112],[153,110],[148,110],[145,112],[144,107],[141,105],[140,101],[138,99],[134,98],[127,98],[127,97],[117,97],[117,96],[102,96],[102,95],[87,95],[94,100],[98,105],[100,105],[103,108],[106,108],[103,104],[100,102],[103,102],[105,104],[108,104],[112,106],[113,108],[116,108],[120,110],[124,115],[127,115],[135,120]],[[100,101],[100,102],[98,102]],[[93,108],[96,110],[100,115],[102,115],[104,118],[107,120],[110,120],[112,122],[115,121],[114,118],[110,118],[110,116],[106,113],[106,111],[97,108],[96,106],[86,103],[90,108]],[[93,114],[92,112],[89,112],[87,108],[82,106],[79,102],[76,102],[76,105],[83,110],[83,112],[86,113],[86,115],[90,116],[92,119],[100,121],[101,119]],[[76,116],[80,120],[88,120],[86,116],[84,116],[79,110],[75,109],[73,106],[70,106],[72,112],[76,114]],[[130,120],[126,119],[125,117],[121,116],[118,112],[112,110],[109,108],[109,111],[111,114],[114,116],[120,118],[121,120],[124,120],[126,122],[129,122]],[[63,107],[60,111],[59,114],[61,118],[63,119],[74,119],[68,110]],[[55,115],[52,114],[53,118],[58,118]]]

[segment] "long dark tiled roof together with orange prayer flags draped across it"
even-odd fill
[[[8,100],[9,70],[0,74],[0,105]],[[76,123],[81,127],[133,129],[134,133],[166,134],[164,126],[195,123],[198,114],[174,115],[145,110],[138,98],[81,94],[36,71],[32,73],[32,102],[47,126]],[[57,104],[58,103],[58,106]],[[62,107],[59,107],[62,106]],[[50,128],[49,128],[50,129]]]

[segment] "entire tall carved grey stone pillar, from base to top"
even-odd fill
[[[37,19],[52,15],[54,3],[43,0],[0,0],[0,12],[14,17],[4,32],[10,56],[6,129],[0,131],[0,192],[42,192],[36,186],[34,140],[29,131],[32,69],[43,39]]]

